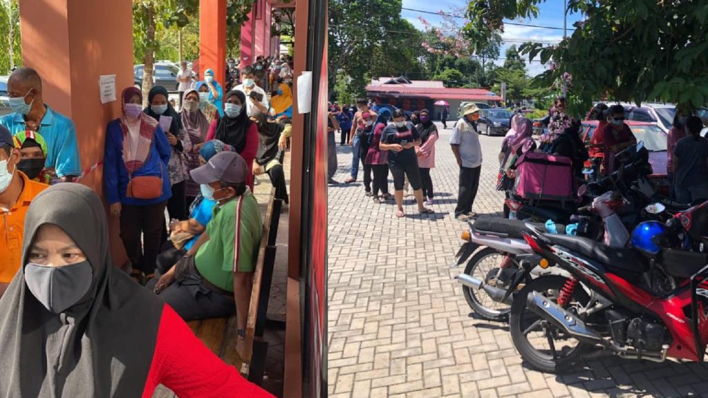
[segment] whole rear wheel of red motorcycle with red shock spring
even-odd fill
[[[589,344],[564,334],[561,329],[527,307],[527,296],[531,292],[542,293],[556,302],[566,280],[567,278],[559,275],[536,278],[514,297],[511,305],[509,329],[516,350],[532,368],[546,373],[570,370],[571,365],[581,359],[583,353],[590,348]],[[588,300],[588,294],[578,284],[566,309],[575,312],[574,307],[586,305]]]

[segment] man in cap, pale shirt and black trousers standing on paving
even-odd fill
[[[479,120],[479,108],[474,103],[468,103],[464,106],[462,118],[455,123],[450,137],[452,153],[455,154],[459,166],[459,193],[457,207],[455,207],[455,217],[459,221],[467,221],[475,216],[472,205],[477,195],[482,166],[477,120]]]

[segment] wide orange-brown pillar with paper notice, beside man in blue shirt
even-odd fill
[[[120,93],[133,85],[132,3],[129,0],[20,1],[23,64],[42,77],[46,103],[76,125],[82,168],[103,160],[105,126],[120,115]],[[98,77],[115,74],[116,99],[101,104]],[[81,183],[102,192],[102,169]],[[125,251],[110,217],[111,252]]]

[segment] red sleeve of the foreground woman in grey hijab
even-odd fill
[[[142,397],[152,397],[160,384],[180,398],[273,397],[215,356],[169,305],[162,311]]]

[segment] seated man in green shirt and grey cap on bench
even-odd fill
[[[235,152],[217,154],[190,172],[205,196],[210,193],[217,201],[214,217],[185,257],[154,285],[185,321],[227,317],[236,310],[241,337],[263,233],[261,210],[246,186],[248,172]]]

